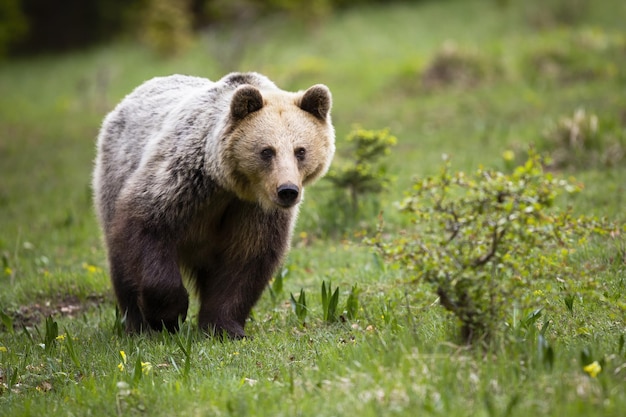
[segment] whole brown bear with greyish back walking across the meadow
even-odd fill
[[[304,187],[335,152],[330,90],[264,75],[156,77],[105,118],[92,187],[128,333],[175,332],[199,298],[207,334],[245,322],[284,262]]]

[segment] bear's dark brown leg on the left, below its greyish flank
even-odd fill
[[[111,278],[126,316],[126,330],[145,327],[178,330],[187,316],[189,295],[183,285],[175,247],[167,235],[140,222],[116,222],[109,239]]]

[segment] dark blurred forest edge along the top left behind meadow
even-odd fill
[[[413,0],[419,2],[421,0]],[[0,57],[58,52],[139,37],[163,54],[194,32],[282,14],[307,24],[337,9],[386,0],[1,0]]]

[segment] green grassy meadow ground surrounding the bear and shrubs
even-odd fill
[[[195,304],[177,335],[117,330],[89,184],[100,121],[133,87],[172,72],[215,79],[231,70],[265,73],[284,89],[328,84],[339,157],[354,124],[398,137],[389,161],[396,182],[379,201],[395,233],[404,219],[393,202],[413,176],[436,172],[444,153],[453,169],[506,169],[505,150],[523,157],[551,122],[581,107],[610,122],[605,132],[626,136],[626,5],[583,1],[586,13],[564,17],[564,0],[516,3],[368,7],[312,28],[270,19],[243,33],[202,35],[170,60],[126,41],[3,62],[0,414],[623,415],[624,159],[558,173],[585,183],[562,204],[621,226],[621,238],[598,239],[572,259],[595,277],[598,296],[574,298],[571,311],[564,299],[546,300],[537,327],[521,325],[530,312],[512,303],[511,333],[488,351],[456,344],[457,323],[436,297],[381,265],[359,238],[324,238],[324,218],[337,208],[323,181],[307,191],[284,289],[266,291],[255,307],[251,338],[197,334]],[[421,74],[451,42],[488,76],[427,88]],[[561,66],[531,65],[554,51],[565,57]],[[375,216],[364,228],[375,228]],[[322,281],[339,287],[340,310],[358,284],[353,321],[323,320]],[[304,325],[289,305],[301,289]],[[46,335],[50,314],[58,333]],[[548,321],[551,365],[538,337]],[[602,365],[596,378],[583,371],[590,360]],[[144,372],[142,362],[150,364]]]

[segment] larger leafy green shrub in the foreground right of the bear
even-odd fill
[[[574,217],[554,201],[575,184],[554,178],[531,152],[511,174],[483,168],[415,182],[401,210],[414,228],[391,241],[369,240],[417,284],[426,284],[461,324],[465,342],[489,341],[507,314],[542,306],[551,292],[577,287],[569,255],[598,220]]]

